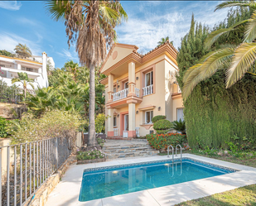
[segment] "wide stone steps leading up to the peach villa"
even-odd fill
[[[106,159],[127,158],[133,156],[156,156],[159,151],[152,149],[147,140],[109,140],[104,143]]]

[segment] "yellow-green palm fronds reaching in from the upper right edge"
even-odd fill
[[[201,81],[210,78],[219,69],[226,69],[226,88],[235,84],[244,77],[245,73],[254,73],[256,59],[256,2],[255,1],[229,1],[220,3],[216,9],[225,7],[250,7],[254,9],[252,16],[244,21],[238,22],[229,28],[213,31],[205,40],[205,47],[210,48],[220,36],[227,35],[231,31],[239,31],[240,26],[245,25],[244,41],[239,46],[224,46],[220,50],[212,51],[203,56],[199,63],[193,65],[186,71],[182,88],[182,96],[188,98],[192,90]]]

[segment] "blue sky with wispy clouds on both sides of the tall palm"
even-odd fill
[[[139,47],[145,54],[169,36],[176,49],[190,29],[191,15],[207,26],[223,21],[227,9],[214,12],[221,1],[121,1],[128,22],[116,28],[118,43]],[[0,50],[13,51],[18,43],[26,44],[33,55],[43,51],[53,57],[56,68],[67,60],[79,62],[75,45],[67,45],[64,22],[55,22],[46,12],[44,1],[0,0]]]

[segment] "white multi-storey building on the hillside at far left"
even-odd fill
[[[26,72],[28,78],[34,79],[34,87],[37,89],[48,87],[47,77],[47,55],[42,53],[41,62],[31,58],[20,59],[17,57],[8,57],[0,55],[0,79],[2,78],[8,86],[12,86],[12,78],[18,77],[18,72]],[[21,83],[15,83],[22,88]],[[27,89],[32,89],[31,85],[27,85]]]

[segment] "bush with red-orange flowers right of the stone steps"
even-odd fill
[[[156,150],[167,149],[168,146],[175,147],[176,145],[183,146],[183,142],[186,141],[186,135],[179,133],[168,134],[150,134],[146,136],[147,141],[152,148]]]

